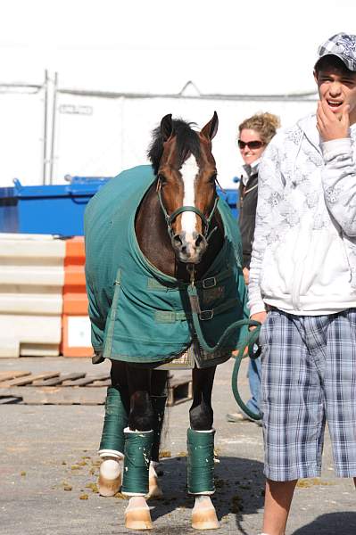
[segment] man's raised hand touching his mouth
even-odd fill
[[[336,117],[325,101],[319,101],[317,110],[317,128],[323,141],[349,137],[350,106],[346,104],[341,117]]]

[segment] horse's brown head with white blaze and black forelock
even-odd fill
[[[217,130],[216,111],[200,132],[191,123],[166,115],[148,152],[171,243],[181,262],[199,263],[208,246],[217,202],[217,170],[211,153]]]

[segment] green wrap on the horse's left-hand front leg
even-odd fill
[[[152,443],[153,431],[134,432],[125,429],[122,494],[145,496],[148,493]]]

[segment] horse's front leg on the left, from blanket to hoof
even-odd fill
[[[149,467],[153,445],[151,370],[127,366],[130,410],[125,434],[121,492],[129,498],[125,525],[131,530],[153,528],[145,496],[149,491]]]

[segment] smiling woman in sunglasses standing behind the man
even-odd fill
[[[244,175],[240,179],[239,193],[239,226],[243,243],[244,281],[249,282],[251,253],[253,250],[254,220],[257,207],[258,170],[261,156],[270,140],[280,126],[277,115],[259,113],[244,121],[238,127],[238,148],[244,160]],[[248,367],[251,399],[246,406],[255,414],[260,413],[261,359],[250,359]],[[251,420],[261,424],[261,420],[253,420],[241,409],[240,412],[228,414],[228,422]]]

